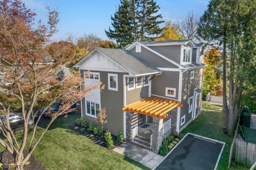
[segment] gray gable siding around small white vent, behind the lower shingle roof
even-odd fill
[[[179,68],[178,66],[170,63],[169,61],[165,60],[164,58],[156,55],[155,53],[149,51],[148,49],[141,47],[141,52],[136,53],[135,47],[130,49],[133,54],[138,55],[143,60],[147,61],[148,63],[156,66],[156,67],[163,67],[163,68]]]

